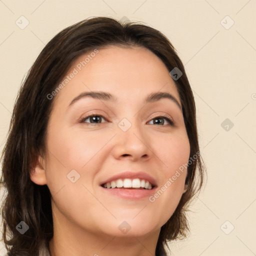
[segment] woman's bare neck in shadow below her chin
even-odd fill
[[[114,236],[82,229],[62,214],[53,214],[51,256],[155,256],[160,229],[145,236]]]

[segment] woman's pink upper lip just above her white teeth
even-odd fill
[[[135,171],[123,171],[123,172],[115,174],[115,175],[107,178],[106,180],[102,181],[100,183],[100,185],[103,185],[104,183],[107,183],[107,182],[114,181],[114,180],[119,179],[119,178],[121,178],[121,179],[124,179],[124,178],[145,179],[145,180],[149,181],[152,186],[156,186],[155,179],[152,176],[150,176],[149,174],[147,174],[146,172],[143,172],[143,171],[138,171],[138,172],[135,172]]]

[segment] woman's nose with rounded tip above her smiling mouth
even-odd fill
[[[149,137],[143,132],[141,125],[132,123],[126,131],[117,127],[112,151],[113,156],[116,159],[127,158],[131,161],[137,161],[139,159],[147,160],[152,153],[149,141]]]

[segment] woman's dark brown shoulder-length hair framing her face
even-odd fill
[[[183,193],[174,213],[161,227],[156,255],[167,241],[185,237],[188,202],[202,186],[204,165],[198,155],[195,103],[181,60],[170,41],[158,30],[139,22],[120,22],[109,17],[91,17],[56,34],[42,49],[18,92],[3,148],[1,182],[6,188],[2,205],[3,240],[10,255],[38,255],[39,244],[53,236],[51,194],[47,185],[30,180],[29,172],[38,155],[45,154],[45,134],[53,105],[46,95],[64,77],[73,61],[90,50],[108,45],[142,46],[157,55],[167,69],[182,75],[175,80],[190,143],[190,157]],[[23,220],[29,229],[20,234],[16,225]]]

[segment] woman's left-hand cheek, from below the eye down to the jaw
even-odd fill
[[[48,134],[46,178],[56,205],[54,208],[71,219],[83,221],[91,216],[93,208],[100,208],[90,191],[94,174],[99,168],[96,155],[109,136],[72,133],[64,128],[49,130]],[[86,221],[83,225],[87,225]]]

